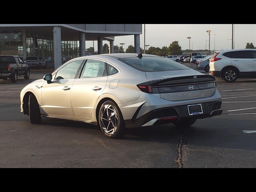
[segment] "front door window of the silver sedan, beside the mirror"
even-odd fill
[[[83,60],[70,62],[58,70],[55,79],[74,79]]]

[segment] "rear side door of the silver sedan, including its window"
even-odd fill
[[[81,76],[74,81],[71,91],[71,104],[76,117],[91,117],[107,80],[105,62],[90,59],[86,61]]]

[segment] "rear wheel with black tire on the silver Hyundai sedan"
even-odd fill
[[[112,112],[111,115],[108,111]],[[112,115],[113,113],[114,115]],[[116,120],[116,117],[118,120]],[[114,124],[116,126],[114,126]],[[98,112],[98,125],[100,126],[100,130],[102,130],[103,134],[108,138],[116,139],[125,136],[125,124],[122,113],[112,100],[107,100],[100,106],[100,110]]]

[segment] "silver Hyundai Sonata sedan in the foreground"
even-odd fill
[[[72,59],[24,87],[20,102],[32,124],[42,117],[78,120],[99,125],[109,138],[132,127],[186,127],[222,113],[213,76],[142,53]]]

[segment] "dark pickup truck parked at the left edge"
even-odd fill
[[[10,78],[13,83],[16,83],[18,77],[29,79],[30,69],[27,64],[24,64],[19,56],[15,55],[0,55],[0,79]]]

